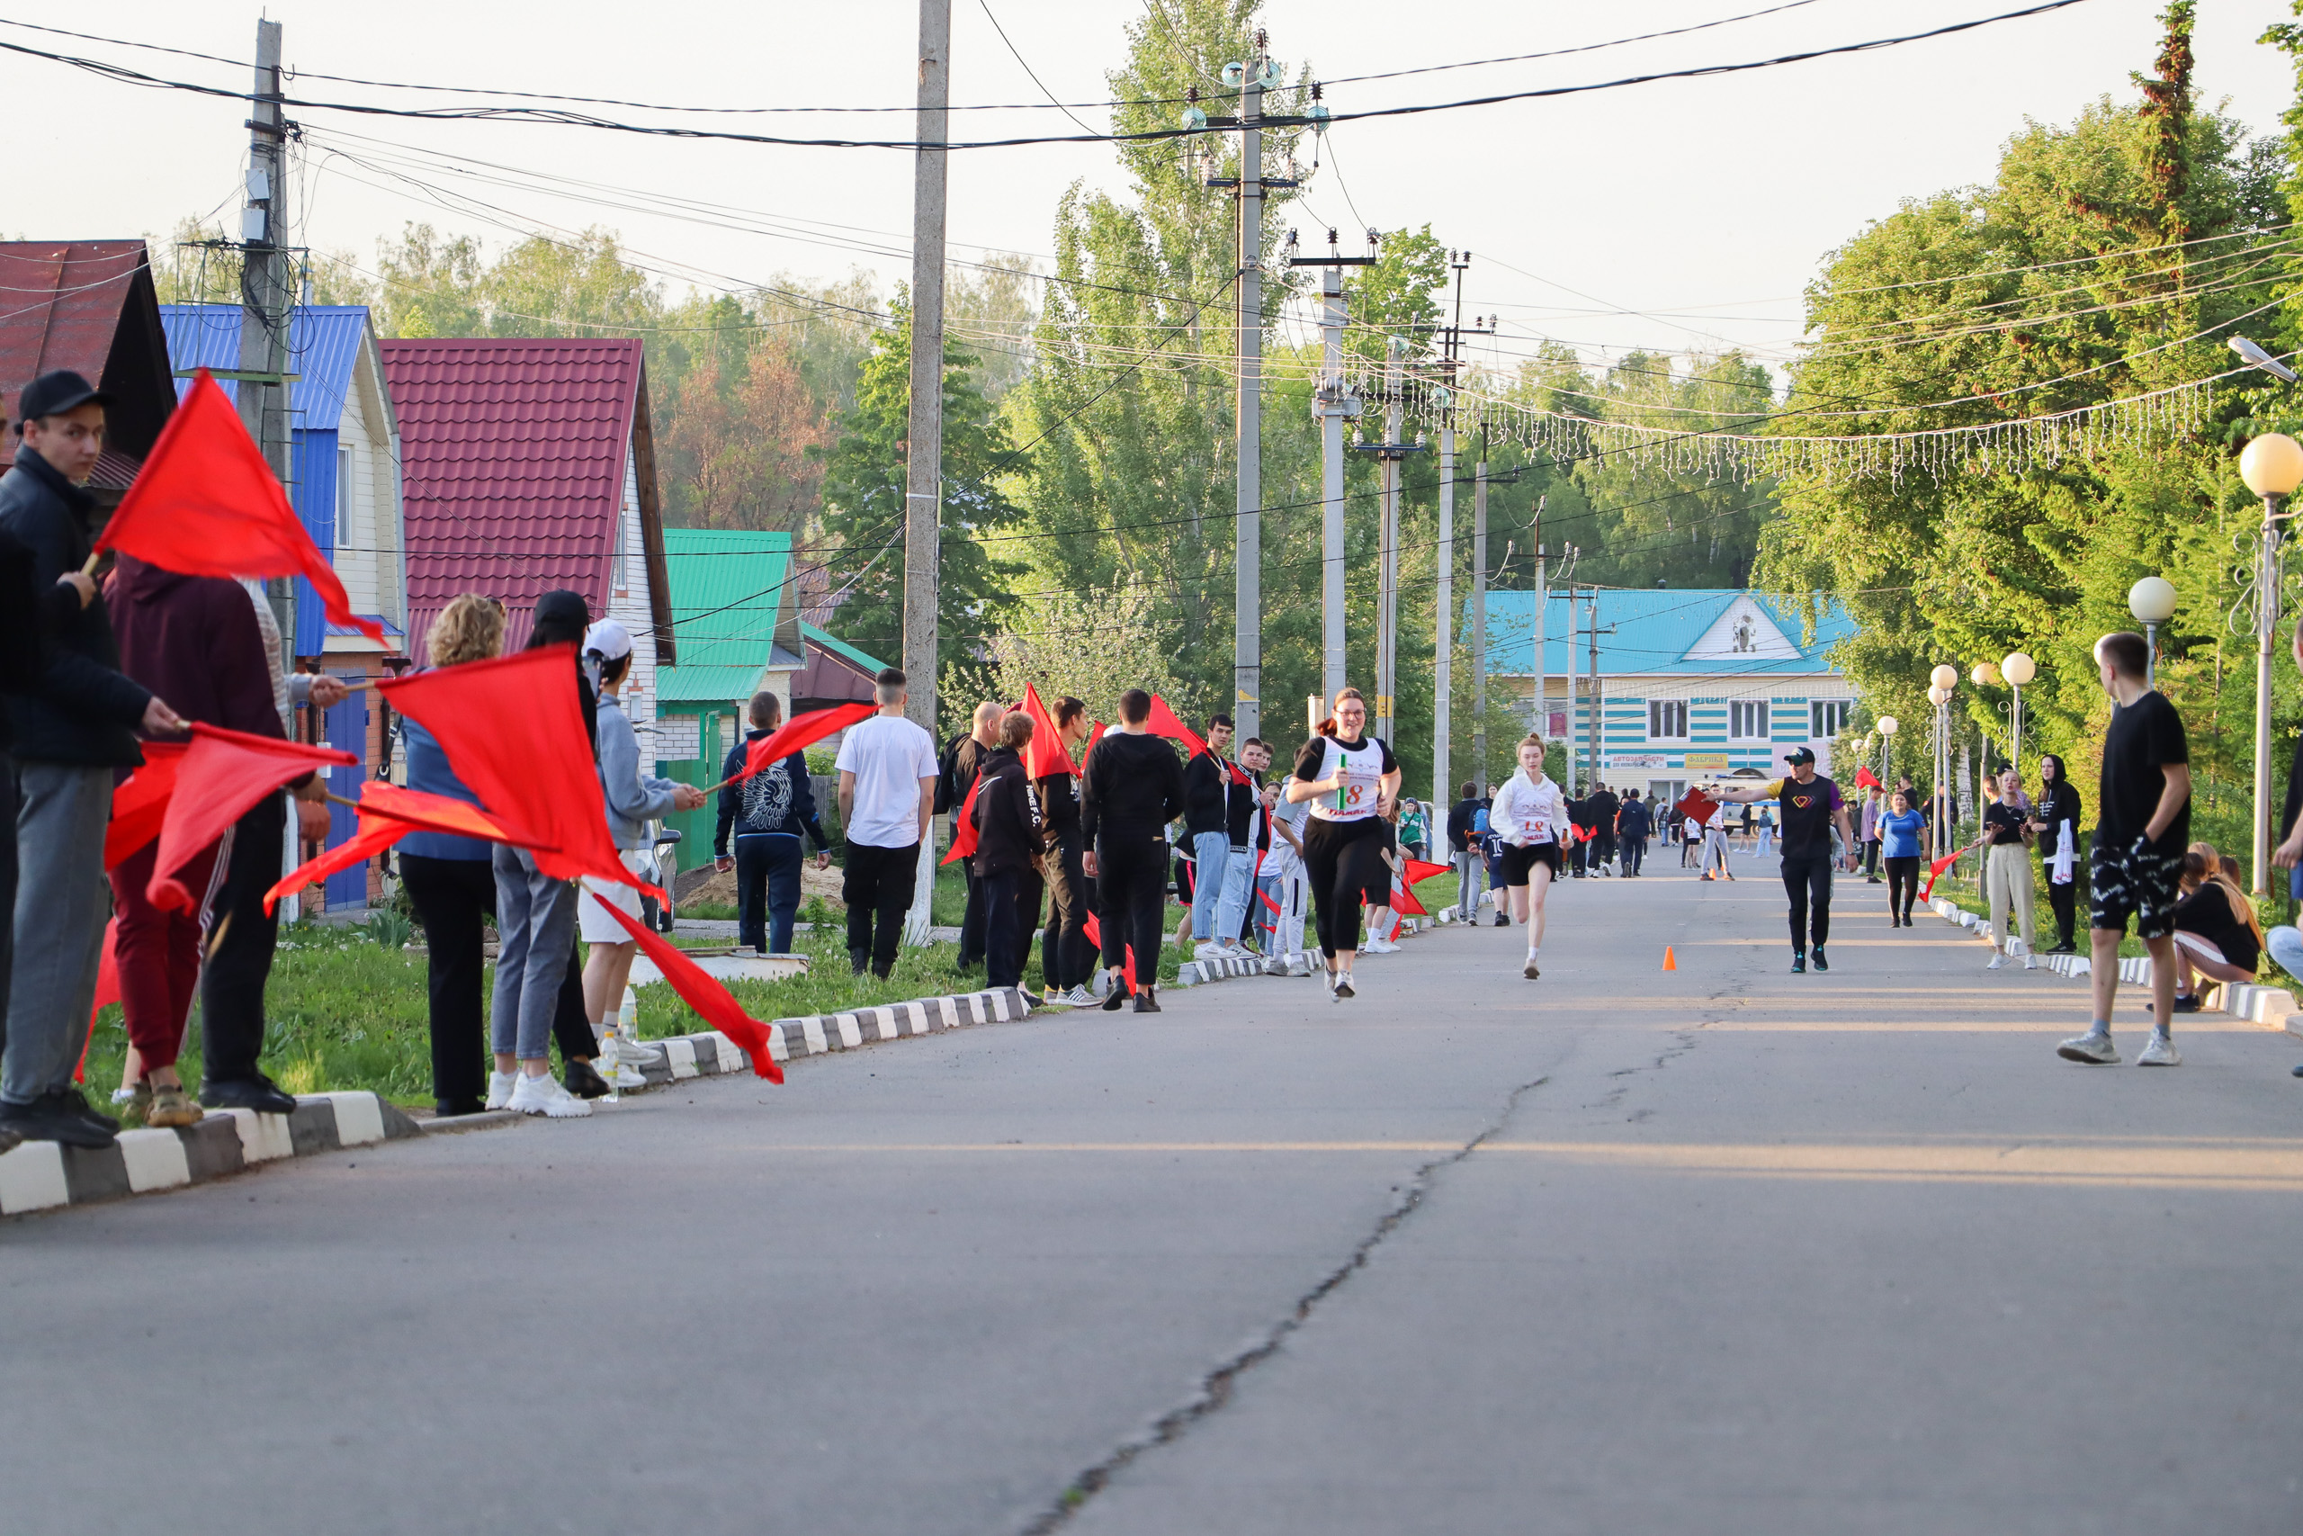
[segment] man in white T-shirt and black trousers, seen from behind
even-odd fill
[[[841,737],[841,829],[848,857],[841,898],[848,903],[848,965],[857,976],[887,979],[912,910],[919,857],[935,822],[935,737],[903,718],[905,675],[882,668],[873,682],[880,714]],[[877,919],[877,923],[875,923]]]

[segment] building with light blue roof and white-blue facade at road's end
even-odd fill
[[[1812,746],[1819,771],[1831,771],[1831,737],[1854,709],[1829,656],[1854,633],[1838,603],[1819,599],[1812,636],[1796,610],[1732,587],[1603,587],[1596,608],[1607,788],[1677,799],[1725,774],[1773,776],[1794,746]],[[1488,594],[1488,695],[1568,744],[1578,783],[1594,712],[1591,613],[1589,590],[1548,596],[1538,668],[1536,594]]]

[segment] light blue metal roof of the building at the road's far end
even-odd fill
[[[1707,633],[1736,606],[1750,599],[1759,615],[1773,624],[1776,636],[1759,636],[1759,652],[1778,654],[1711,654],[1690,659]],[[1854,619],[1829,596],[1819,596],[1822,610],[1815,622],[1815,638],[1803,631],[1803,615],[1794,608],[1739,587],[1603,587],[1598,594],[1598,670],[1607,675],[1815,675],[1835,670],[1829,649],[1854,636]],[[1534,666],[1534,592],[1488,592],[1488,670],[1525,677]],[[1552,592],[1543,615],[1543,670],[1566,672],[1571,666],[1589,666],[1591,606],[1584,594],[1575,603],[1575,661],[1568,661],[1568,599]],[[1472,606],[1465,603],[1465,636],[1472,633]]]

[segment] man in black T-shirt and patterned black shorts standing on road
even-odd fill
[[[2096,841],[2087,852],[2089,949],[2093,951],[2093,1009],[2087,1034],[2057,1055],[2066,1062],[2112,1066],[2112,997],[2119,990],[2119,940],[2135,919],[2135,937],[2151,951],[2151,1041],[2137,1066],[2181,1066],[2169,1016],[2174,1013],[2174,903],[2190,843],[2190,742],[2183,716],[2149,682],[2151,649],[2142,636],[2119,631],[2096,640],[2096,675],[2112,695],[2103,732],[2103,785],[2096,790]]]

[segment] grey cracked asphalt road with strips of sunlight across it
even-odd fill
[[[1587,880],[1538,983],[1449,928],[0,1223],[0,1531],[2303,1529],[2298,1043],[2070,1066],[2082,983],[1838,917]]]

